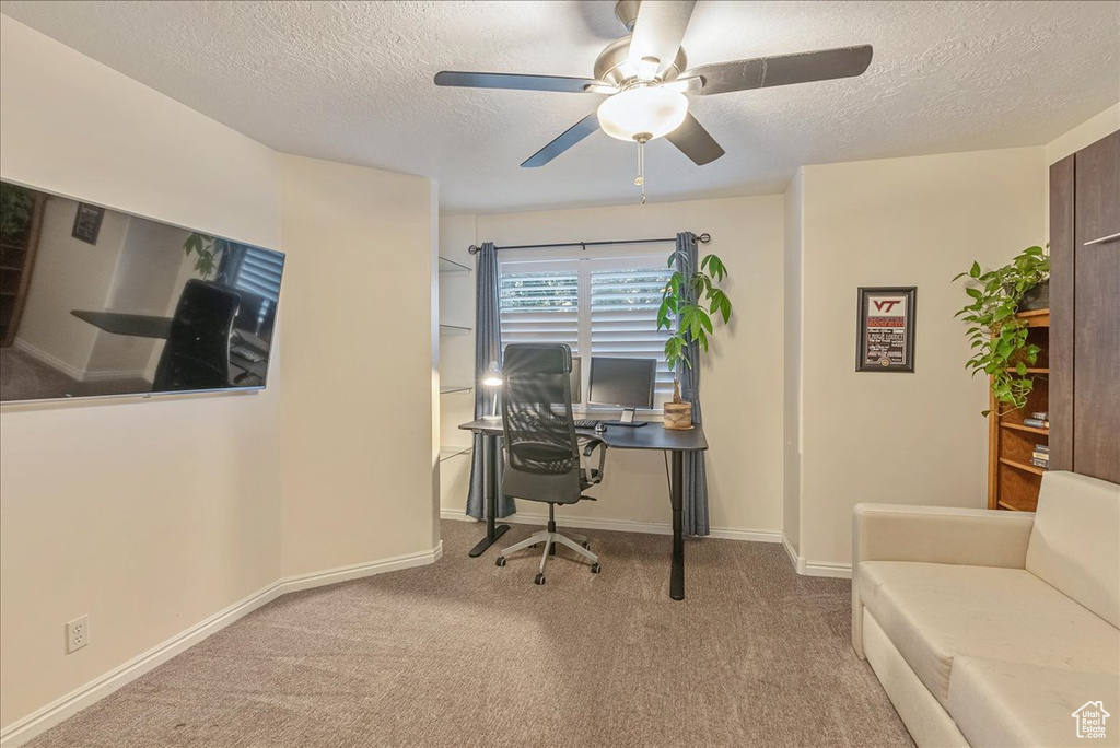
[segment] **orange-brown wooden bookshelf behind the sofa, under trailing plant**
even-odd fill
[[[1026,426],[1023,419],[1034,412],[1049,411],[1049,309],[1023,311],[1016,317],[1029,328],[1027,342],[1042,350],[1035,364],[1027,368],[1035,387],[1025,408],[999,415],[999,404],[989,395],[988,508],[1034,512],[1046,469],[1032,465],[1030,456],[1035,445],[1049,445],[1049,430]]]

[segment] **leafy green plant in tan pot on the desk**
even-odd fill
[[[669,255],[672,268],[681,250]],[[700,261],[700,267],[688,275],[675,271],[661,294],[657,309],[657,329],[671,331],[665,340],[665,363],[676,372],[678,364],[692,366],[685,356],[688,346],[696,343],[700,350],[708,353],[708,336],[712,334],[712,319],[722,317],[724,324],[731,319],[731,300],[719,288],[727,278],[727,265],[715,254]],[[673,329],[674,320],[680,325]],[[666,429],[692,428],[692,403],[681,400],[681,383],[673,378],[673,400],[665,403]]]

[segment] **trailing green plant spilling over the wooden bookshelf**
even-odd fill
[[[973,376],[983,372],[990,377],[997,408],[1007,405],[1002,412],[1024,408],[1035,386],[1027,370],[1038,361],[1040,349],[1027,342],[1029,328],[1015,315],[1048,301],[1048,293],[1043,297],[1035,289],[1048,284],[1049,255],[1040,246],[1030,246],[1008,264],[988,272],[973,262],[953,280],[961,278],[967,279],[964,292],[971,300],[954,317],[970,324],[967,335],[973,350],[964,367],[972,370]],[[1028,294],[1035,297],[1034,303],[1024,305],[1025,298],[1029,301]]]

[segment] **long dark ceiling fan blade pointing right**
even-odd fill
[[[785,86],[791,83],[849,78],[861,75],[870,64],[871,45],[862,45],[701,65],[682,73],[681,77],[694,75],[702,77],[703,87],[697,93],[706,96],[730,91]]]

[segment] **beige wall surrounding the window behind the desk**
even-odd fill
[[[533,244],[564,240],[609,240],[673,236],[680,231],[708,232],[712,241],[701,253],[719,254],[730,269],[727,286],[735,303],[729,329],[717,330],[713,355],[702,370],[704,431],[711,443],[708,481],[711,525],[721,530],[777,533],[782,527],[782,253],[781,195],[715,200],[622,205],[570,211],[479,215],[456,218],[454,231],[442,231],[441,252],[465,255],[477,240],[503,244]],[[445,224],[448,224],[445,221]],[[665,253],[671,251],[664,246]],[[472,263],[473,264],[473,263]],[[445,283],[445,288],[447,283]],[[473,301],[472,301],[473,309]],[[445,319],[474,319],[455,309]],[[466,337],[444,342],[444,374],[450,376],[451,346],[469,345]],[[473,348],[467,367],[473,361]],[[445,395],[445,406],[450,402]],[[447,408],[450,415],[450,408]],[[456,411],[459,412],[459,411]],[[469,413],[467,413],[469,415]],[[445,441],[459,439],[444,419]],[[647,427],[648,428],[648,427]],[[595,492],[596,503],[566,508],[564,517],[669,523],[665,468],[660,454],[617,451],[609,456],[607,478]],[[466,458],[444,464],[444,507],[463,512]],[[523,512],[541,514],[523,502]]]

